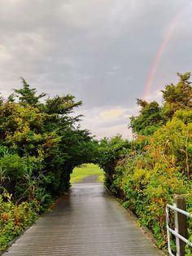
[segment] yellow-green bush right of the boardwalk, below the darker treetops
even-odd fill
[[[106,183],[107,188],[120,197],[124,207],[137,215],[139,223],[153,232],[159,248],[167,245],[165,206],[172,204],[174,196],[179,194],[186,196],[187,210],[192,208],[192,141],[188,112],[190,110],[175,113],[153,135],[140,135],[133,140],[126,155],[122,158],[117,155],[111,183]],[[111,145],[111,152],[113,147]],[[104,164],[107,166],[110,162],[108,157]]]

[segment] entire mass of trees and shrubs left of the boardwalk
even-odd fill
[[[96,155],[97,142],[71,115],[81,101],[42,101],[44,93],[22,83],[0,100],[0,249],[68,190],[75,166]]]

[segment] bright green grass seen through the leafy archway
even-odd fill
[[[78,183],[91,175],[98,175],[98,182],[103,182],[103,170],[94,164],[85,164],[72,170],[71,183]]]

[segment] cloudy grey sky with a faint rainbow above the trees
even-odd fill
[[[192,71],[191,28],[191,0],[0,0],[0,92],[70,93],[83,128],[130,138],[136,98]]]

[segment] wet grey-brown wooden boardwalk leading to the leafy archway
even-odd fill
[[[162,255],[101,183],[79,183],[3,256]]]

